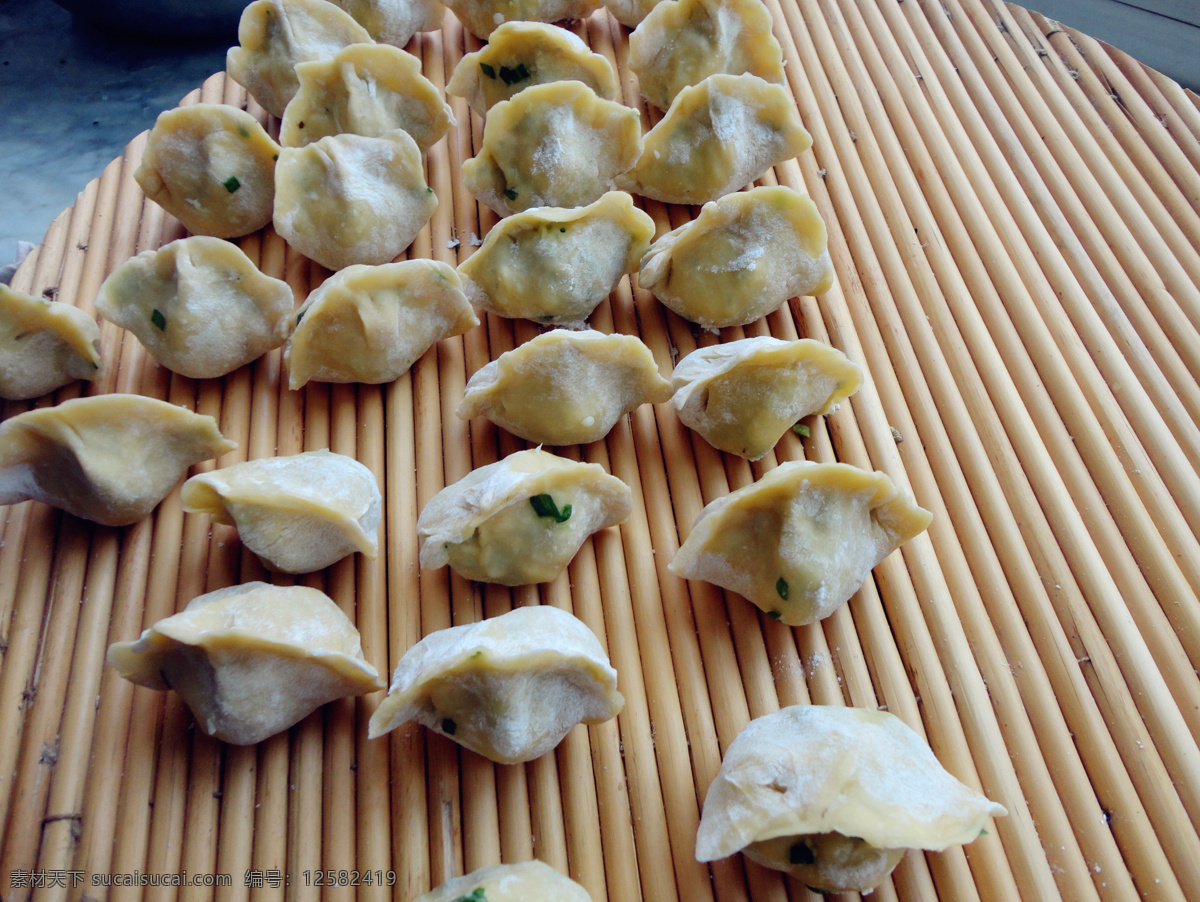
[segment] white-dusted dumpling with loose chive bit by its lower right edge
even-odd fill
[[[802,416],[827,414],[863,384],[828,344],[760,336],[692,351],[671,374],[679,419],[721,451],[757,461]]]

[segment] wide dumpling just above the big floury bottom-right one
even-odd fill
[[[848,601],[930,519],[883,473],[793,461],[706,506],[668,570],[800,626]]]

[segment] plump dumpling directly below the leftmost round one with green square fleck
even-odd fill
[[[96,312],[138,337],[168,369],[210,379],[278,348],[292,289],[241,248],[193,235],[143,251],[104,279]]]

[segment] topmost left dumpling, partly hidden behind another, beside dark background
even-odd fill
[[[347,44],[371,43],[350,14],[325,0],[254,0],[241,13],[229,77],[272,116],[282,116],[300,82],[295,66],[326,60]]]

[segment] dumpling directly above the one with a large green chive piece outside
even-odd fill
[[[630,410],[672,391],[641,339],[556,329],[480,367],[457,414],[486,416],[529,441],[576,445],[599,441]]]

